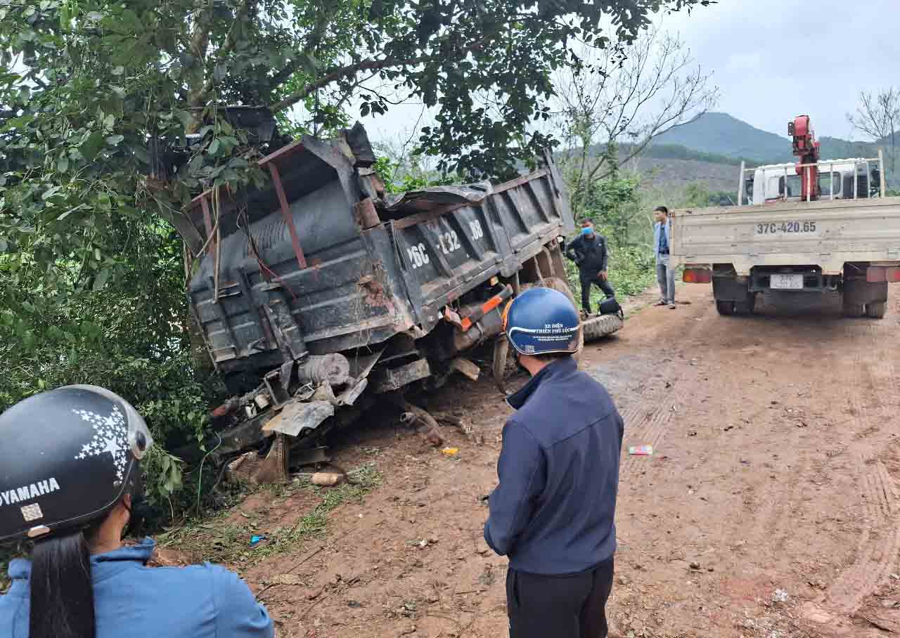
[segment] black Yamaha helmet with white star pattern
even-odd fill
[[[71,385],[0,415],[0,541],[85,527],[139,489],[153,439],[111,391]]]

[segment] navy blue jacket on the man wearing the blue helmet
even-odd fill
[[[572,358],[509,397],[484,540],[535,574],[589,570],[616,552],[624,424],[606,389]]]

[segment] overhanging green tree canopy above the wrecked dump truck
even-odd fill
[[[383,113],[370,79],[437,108],[419,151],[438,169],[509,176],[552,143],[554,68],[578,67],[575,40],[635,40],[653,13],[710,0],[25,0],[0,6],[0,239],[40,268],[117,249],[112,217],[165,217],[202,184],[262,179],[252,139],[222,104],[263,105],[294,130]],[[607,34],[601,22],[614,25]],[[527,60],[527,63],[523,63]],[[287,110],[298,105],[297,113]],[[168,175],[160,149],[196,133]],[[138,213],[137,211],[141,211]],[[58,238],[59,240],[47,240]],[[42,242],[42,249],[37,250]],[[0,249],[4,248],[0,245]],[[99,260],[96,260],[97,262]],[[115,273],[111,273],[115,274]]]

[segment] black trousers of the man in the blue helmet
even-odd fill
[[[509,638],[607,638],[613,560],[567,576],[507,573]]]

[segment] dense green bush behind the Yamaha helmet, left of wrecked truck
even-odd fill
[[[60,261],[49,294],[29,250],[0,256],[0,411],[73,383],[120,394],[157,440],[143,464],[148,497],[174,511],[184,464],[168,451],[202,440],[216,384],[192,355],[180,240],[152,223],[130,230],[120,255],[99,256],[117,271],[110,283],[79,283],[79,264]]]

